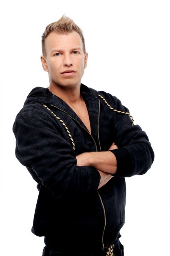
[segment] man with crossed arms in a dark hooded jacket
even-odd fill
[[[32,232],[43,256],[122,256],[124,177],[148,171],[150,142],[116,97],[81,83],[88,55],[73,20],[46,27],[42,53],[49,88],[30,92],[13,126],[16,157],[38,183]]]

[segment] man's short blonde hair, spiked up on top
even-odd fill
[[[83,51],[84,53],[86,52],[85,40],[84,40],[82,29],[80,29],[73,22],[73,20],[63,15],[62,18],[60,18],[60,20],[49,24],[46,27],[44,33],[42,34],[42,54],[43,55],[45,55],[45,39],[52,31],[55,31],[58,34],[67,34],[67,33],[76,31],[79,34],[80,38],[82,39]]]

